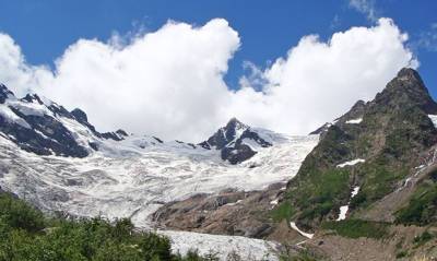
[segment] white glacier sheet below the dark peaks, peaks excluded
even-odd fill
[[[150,137],[102,141],[84,158],[40,156],[0,137],[0,187],[45,211],[78,216],[130,216],[150,227],[149,215],[163,203],[226,188],[257,190],[287,181],[318,137],[284,137],[240,165],[220,152]]]

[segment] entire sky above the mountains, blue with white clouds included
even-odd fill
[[[402,67],[437,97],[433,0],[0,0],[0,82],[101,130],[201,141],[231,117],[305,134]]]

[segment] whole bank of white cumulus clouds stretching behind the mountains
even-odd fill
[[[250,62],[237,91],[223,81],[240,46],[225,20],[203,26],[168,22],[156,32],[108,43],[80,39],[55,70],[28,64],[0,34],[0,82],[80,107],[101,130],[123,128],[201,141],[236,116],[252,126],[303,134],[371,98],[395,72],[416,67],[406,34],[391,20],[352,27],[328,41],[305,36],[268,68]]]

